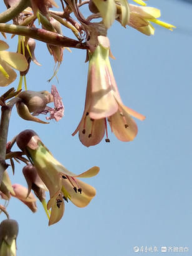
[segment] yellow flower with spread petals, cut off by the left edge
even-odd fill
[[[28,66],[22,54],[5,51],[8,48],[8,44],[0,40],[0,86],[8,86],[16,79],[17,74],[12,67],[18,71],[25,71]]]

